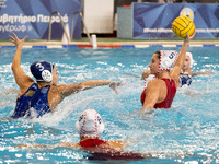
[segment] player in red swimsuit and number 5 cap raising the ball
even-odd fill
[[[153,54],[149,67],[150,73],[154,74],[155,79],[148,82],[141,94],[141,110],[171,107],[178,86],[178,75],[185,61],[187,46],[194,35],[195,33],[184,39],[178,57],[176,51],[171,50],[160,50]],[[170,73],[172,65],[174,67]]]

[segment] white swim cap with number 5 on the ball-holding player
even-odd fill
[[[177,51],[175,50],[160,50],[159,71],[170,70],[177,59]]]

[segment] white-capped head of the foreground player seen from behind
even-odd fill
[[[104,124],[96,110],[87,109],[76,122],[76,130],[80,137],[96,138],[104,131]]]

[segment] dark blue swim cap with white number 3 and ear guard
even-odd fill
[[[53,65],[50,62],[36,61],[31,65],[30,69],[36,81],[51,82]]]

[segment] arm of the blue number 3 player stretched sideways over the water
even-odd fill
[[[84,82],[70,84],[70,85],[59,85],[58,90],[62,96],[68,96],[83,90],[92,89],[95,86],[102,86],[102,85],[110,85],[110,87],[113,89],[117,94],[116,86],[123,85],[123,83],[115,82],[115,81],[105,81],[105,80],[104,81],[84,81]]]

